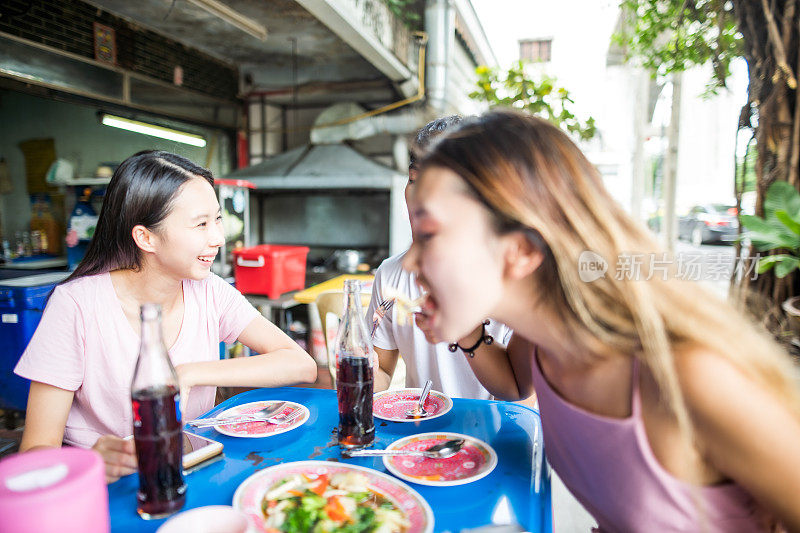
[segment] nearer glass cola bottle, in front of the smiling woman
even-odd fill
[[[145,519],[178,511],[186,501],[178,375],[161,333],[161,306],[141,308],[142,342],[131,384],[133,439],[139,470],[136,510]]]

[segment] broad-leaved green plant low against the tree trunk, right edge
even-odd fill
[[[758,260],[759,274],[775,268],[784,278],[800,267],[800,194],[785,181],[776,181],[764,198],[764,217],[741,215],[753,247],[760,252],[780,252]]]

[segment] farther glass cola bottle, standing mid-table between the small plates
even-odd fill
[[[375,440],[372,419],[372,343],[361,309],[361,282],[345,280],[342,321],[336,334],[339,446],[363,448]]]

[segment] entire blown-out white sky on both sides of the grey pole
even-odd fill
[[[519,58],[520,39],[552,38],[552,61],[537,66],[568,89],[579,117],[592,115],[599,141],[582,145],[609,192],[631,205],[634,105],[640,92],[638,71],[630,65],[606,66],[618,17],[616,0],[472,0],[501,67]],[[739,64],[731,92],[704,100],[707,69],[683,77],[679,146],[678,212],[703,201],[732,196],[736,121],[745,102],[746,69]],[[668,116],[668,110],[667,110]],[[656,128],[657,135],[658,129]],[[645,164],[647,169],[649,164]],[[647,214],[647,213],[646,213]]]

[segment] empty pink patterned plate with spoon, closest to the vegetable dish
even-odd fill
[[[477,481],[497,466],[497,453],[482,440],[460,433],[420,433],[394,441],[387,450],[425,450],[446,440],[464,439],[464,447],[453,457],[430,459],[386,456],[383,464],[392,474],[420,485],[449,487]]]

